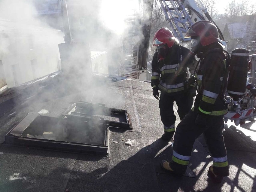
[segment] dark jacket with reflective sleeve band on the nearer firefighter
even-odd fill
[[[227,86],[226,57],[218,42],[209,45],[204,51],[196,76],[199,93],[192,111],[217,116],[227,113],[223,99]]]

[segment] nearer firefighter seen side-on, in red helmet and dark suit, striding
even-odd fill
[[[218,42],[218,29],[210,21],[194,23],[186,33],[192,39],[191,53],[200,57],[197,70],[198,91],[194,107],[178,124],[174,137],[173,156],[161,166],[170,172],[184,174],[195,139],[202,133],[212,154],[213,165],[208,176],[221,182],[229,175],[227,151],[223,138],[224,114],[227,112],[224,94],[227,86],[227,54]]]

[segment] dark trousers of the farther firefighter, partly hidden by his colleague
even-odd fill
[[[185,117],[185,115],[190,111],[193,105],[194,98],[192,96],[189,96],[188,93],[169,95],[165,92],[161,92],[159,107],[164,131],[173,132],[173,134],[175,131],[174,124],[176,120],[176,116],[173,112],[174,101],[178,105],[178,115],[180,119],[183,119],[183,117]]]

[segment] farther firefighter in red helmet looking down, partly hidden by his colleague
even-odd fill
[[[159,29],[153,41],[157,52],[152,59],[151,86],[156,99],[159,99],[158,90],[161,91],[159,107],[164,128],[161,138],[170,141],[175,132],[176,120],[173,102],[175,101],[178,105],[177,112],[180,119],[183,119],[193,105],[196,89],[187,83],[187,67],[190,73],[193,73],[197,61],[187,59],[189,49],[181,46],[167,28]]]

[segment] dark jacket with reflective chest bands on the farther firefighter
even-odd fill
[[[189,85],[187,84],[189,68],[190,73],[194,72],[196,59],[187,60],[189,49],[175,43],[168,50],[167,56],[163,60],[159,60],[158,53],[155,52],[152,59],[152,77],[151,86],[153,89],[157,87],[161,92],[170,95],[183,93]],[[178,72],[175,71],[175,68]]]

